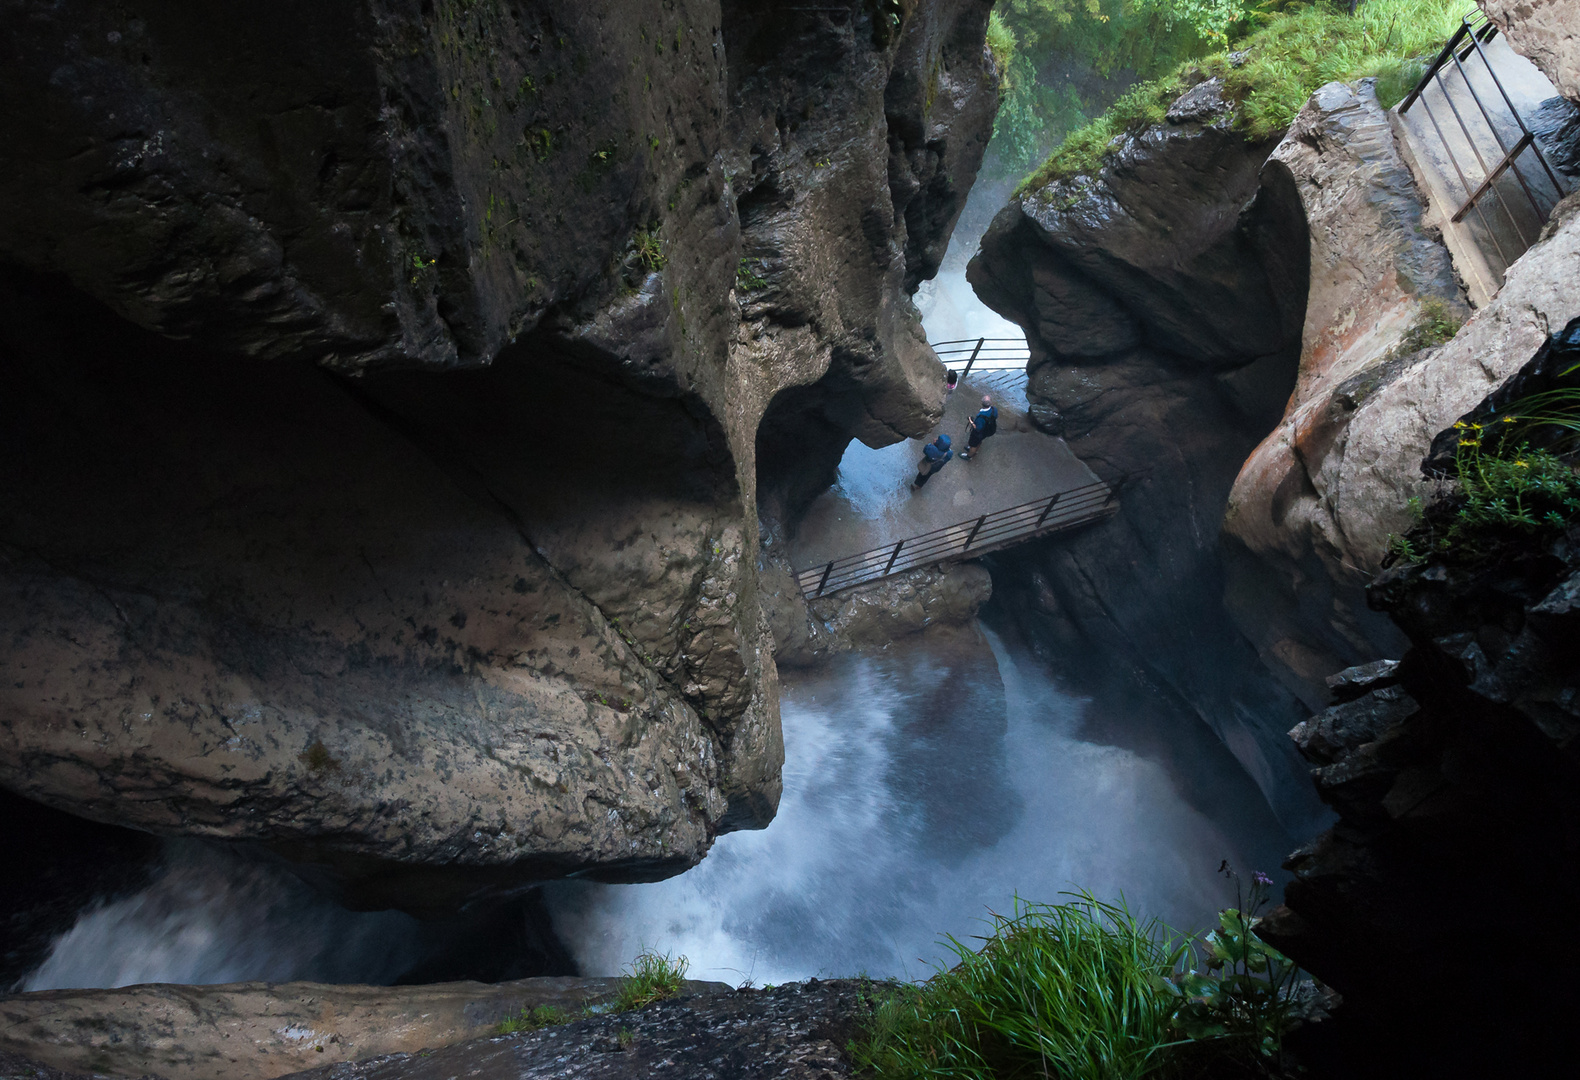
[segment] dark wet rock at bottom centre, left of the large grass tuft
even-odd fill
[[[299,1080],[488,1080],[684,1077],[823,1080],[850,1075],[844,1045],[861,1012],[863,984],[799,982],[664,1001],[638,1012],[577,1020],[376,1061],[292,1074]]]

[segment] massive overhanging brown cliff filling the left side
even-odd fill
[[[0,783],[368,905],[765,823],[760,444],[937,411],[986,8],[13,5]]]

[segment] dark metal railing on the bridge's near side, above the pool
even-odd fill
[[[1008,510],[995,510],[861,554],[796,570],[796,584],[811,600],[852,586],[882,581],[918,567],[973,557],[1035,535],[1073,529],[1106,518],[1119,510],[1114,502],[1115,494],[1101,480],[1070,491],[1059,491]]]

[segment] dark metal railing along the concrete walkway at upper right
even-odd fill
[[[1420,77],[1420,82],[1417,82],[1416,88],[1411,90],[1400,103],[1398,112],[1403,115],[1417,103],[1422,109],[1425,109],[1427,120],[1431,123],[1431,129],[1443,142],[1443,148],[1447,152],[1447,159],[1452,164],[1465,194],[1463,202],[1454,212],[1450,221],[1458,224],[1471,212],[1476,213],[1480,221],[1482,232],[1490,237],[1492,245],[1498,253],[1498,259],[1503,261],[1503,270],[1499,272],[1501,281],[1503,272],[1506,272],[1509,265],[1525,254],[1525,249],[1536,242],[1536,234],[1540,232],[1542,223],[1547,221],[1553,205],[1564,197],[1566,189],[1552,164],[1548,164],[1547,155],[1542,153],[1542,147],[1536,142],[1534,133],[1529,126],[1526,126],[1520,111],[1514,107],[1514,99],[1509,96],[1509,92],[1504,88],[1503,81],[1498,77],[1498,71],[1493,68],[1493,63],[1487,55],[1485,43],[1492,41],[1496,33],[1498,27],[1492,24],[1480,9],[1466,14],[1460,21],[1460,28],[1455,30],[1454,36],[1449,38],[1449,43],[1443,46],[1438,58],[1427,66],[1427,73]],[[1473,58],[1480,62],[1479,66],[1492,76],[1492,84],[1498,90],[1498,95],[1490,106],[1487,99],[1484,99],[1484,95],[1476,92],[1471,71],[1466,68]],[[1471,66],[1474,68],[1474,65]],[[1462,111],[1460,106],[1455,104],[1449,82],[1444,79],[1444,73],[1450,68],[1452,74],[1458,76],[1455,82],[1462,82],[1465,90],[1469,93],[1471,101],[1476,103],[1476,109],[1480,114],[1479,117],[1476,112],[1469,112],[1468,109]],[[1422,96],[1427,88],[1433,85],[1441,95],[1441,101],[1438,103],[1439,109],[1443,104],[1447,104],[1452,123],[1458,126],[1460,134],[1465,137],[1465,145],[1458,148],[1458,153],[1455,153],[1455,139],[1449,136],[1449,131],[1454,128],[1450,126],[1447,131],[1444,129],[1449,123],[1449,117],[1439,118],[1438,109],[1433,109],[1431,101]],[[1506,133],[1512,136],[1515,131],[1518,136],[1514,137],[1510,144],[1509,139],[1506,139]],[[1484,155],[1482,148],[1477,145],[1479,141],[1485,144],[1488,133],[1492,134],[1492,139],[1498,147],[1498,153],[1501,155],[1496,161],[1488,161],[1487,155]],[[1469,148],[1469,155],[1465,153],[1465,147]],[[1536,158],[1536,164],[1540,166],[1540,171],[1533,172],[1529,177],[1526,177],[1526,171],[1531,167],[1529,161],[1525,169],[1520,167],[1520,156],[1526,152],[1529,152]],[[1474,161],[1471,161],[1471,158],[1474,158]],[[1534,227],[1529,218],[1526,218],[1522,226],[1520,218],[1525,218],[1523,210],[1517,213],[1515,208],[1509,205],[1509,197],[1512,197],[1515,204],[1520,202],[1520,197],[1512,191],[1509,193],[1509,197],[1504,196],[1504,189],[1498,185],[1498,180],[1504,174],[1515,178],[1520,193],[1525,196],[1525,202],[1529,204],[1529,208],[1534,213]],[[1548,189],[1552,194],[1548,194]],[[1504,235],[1504,240],[1499,240],[1499,229],[1493,227],[1495,223],[1487,219],[1487,212],[1484,210],[1482,202],[1488,194],[1495,197],[1495,204],[1492,207],[1493,216],[1496,218],[1501,210],[1503,219],[1507,221],[1514,232],[1512,237]],[[1515,240],[1518,240],[1520,245],[1517,251],[1504,249],[1504,242],[1509,242],[1509,246],[1512,248]]]

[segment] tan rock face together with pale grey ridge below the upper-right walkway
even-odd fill
[[[1466,308],[1370,87],[1318,90],[1267,169],[1300,193],[1311,281],[1296,392],[1224,515],[1228,598],[1270,669],[1321,707],[1326,674],[1403,649],[1364,586],[1430,496],[1436,433],[1580,314],[1580,253],[1571,201],[1452,341],[1411,351],[1424,300]]]

